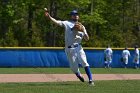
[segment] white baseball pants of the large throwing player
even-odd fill
[[[74,73],[80,72],[78,64],[81,64],[82,67],[89,66],[87,63],[86,54],[81,45],[74,48],[66,47],[65,52],[69,60],[70,68]]]

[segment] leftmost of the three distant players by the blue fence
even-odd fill
[[[110,64],[112,62],[112,54],[113,51],[108,45],[107,48],[104,50],[104,61],[105,61],[105,68],[110,68]]]

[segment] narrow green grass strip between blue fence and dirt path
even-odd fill
[[[85,73],[84,68],[80,68]],[[91,68],[93,74],[140,74],[140,69],[133,68]],[[0,74],[72,74],[70,68],[0,68]]]

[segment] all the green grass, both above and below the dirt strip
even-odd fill
[[[83,68],[80,68],[85,73]],[[140,69],[91,68],[93,74],[140,74]],[[70,68],[0,68],[0,74],[71,74]],[[140,93],[140,80],[45,83],[0,83],[0,93]]]

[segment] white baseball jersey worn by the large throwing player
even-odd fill
[[[73,27],[75,25],[74,21],[57,21],[60,26],[65,27],[65,46],[71,46],[75,43],[81,43],[84,36],[83,32],[74,31]],[[83,26],[84,27],[84,26]],[[84,27],[84,32],[87,34],[87,31]]]

